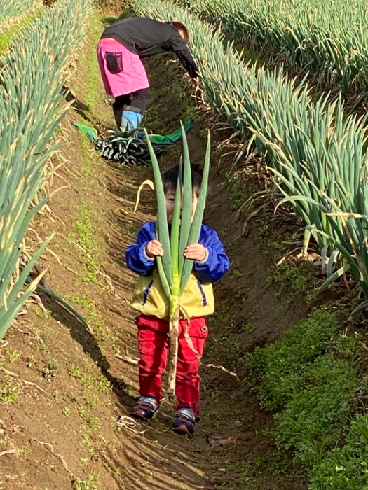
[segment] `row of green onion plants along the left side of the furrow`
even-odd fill
[[[36,288],[37,280],[22,293],[47,241],[18,274],[22,241],[48,201],[46,166],[59,147],[51,137],[68,110],[63,72],[89,13],[88,2],[61,0],[24,27],[0,57],[0,339]],[[36,195],[41,199],[31,207]]]

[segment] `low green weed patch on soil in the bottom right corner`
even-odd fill
[[[342,335],[336,316],[320,309],[247,360],[261,405],[276,412],[275,444],[294,449],[311,490],[363,489],[368,482],[368,416],[351,421],[368,388],[357,339]]]

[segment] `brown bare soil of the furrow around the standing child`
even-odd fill
[[[153,92],[168,84],[165,64],[153,60],[148,69]],[[99,79],[93,103],[86,100],[89,70],[79,63],[78,76],[69,80],[76,101],[62,125],[68,144],[51,188],[59,191],[51,211],[32,225],[27,243],[34,251],[56,232],[40,265],[48,267],[53,291],[88,318],[91,330],[40,291],[8,330],[0,344],[0,489],[306,489],[298,468],[264,434],[273,418],[259,408],[242,359],[278,338],[307,308],[301,300],[285,307],[275,297],[267,280],[271,249],[253,232],[239,237],[243,221],[230,225],[235,211],[223,181],[231,162],[223,158],[217,172],[226,149],[221,139],[214,145],[205,223],[224,241],[232,267],[215,288],[217,313],[201,370],[201,421],[189,440],[170,432],[167,404],[147,425],[128,417],[138,393],[130,307],[137,278],[125,267],[124,253],[141,225],[154,219],[154,196],[145,190],[133,214],[137,188],[151,176],[150,168],[109,165],[70,124],[114,127]],[[151,114],[157,109],[172,130],[179,126],[180,106],[170,91]],[[189,150],[200,161],[203,113],[196,120]],[[179,151],[178,144],[162,164],[176,162]],[[240,382],[207,364],[236,371]]]

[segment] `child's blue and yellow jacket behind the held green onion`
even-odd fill
[[[133,293],[132,307],[145,315],[167,319],[170,305],[161,286],[156,259],[146,255],[149,241],[156,239],[156,223],[148,221],[139,230],[137,241],[125,253],[126,263],[139,279]],[[193,272],[180,297],[182,317],[206,316],[214,312],[212,282],[222,278],[229,269],[229,259],[217,233],[206,225],[200,229],[198,243],[207,248],[207,258],[194,262]]]

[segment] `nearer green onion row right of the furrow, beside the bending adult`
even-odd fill
[[[231,43],[224,45],[221,31],[189,10],[151,0],[131,4],[140,15],[180,18],[189,28],[208,104],[243,139],[254,141],[285,200],[329,255],[329,276],[336,278],[332,265],[339,262],[339,274],[349,267],[367,294],[365,120],[347,116],[340,99],[313,101],[304,81],[297,84],[282,66],[271,71],[245,64]]]

